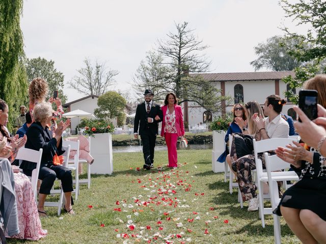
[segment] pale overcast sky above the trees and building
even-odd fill
[[[118,70],[112,89],[128,90],[146,52],[184,21],[210,46],[213,73],[254,71],[254,46],[294,26],[277,0],[25,0],[21,28],[26,56],[52,59],[65,75],[69,102],[85,96],[67,84],[85,57]]]

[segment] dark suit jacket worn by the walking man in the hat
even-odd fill
[[[159,116],[159,120],[157,121],[154,119],[156,115]],[[153,118],[153,123],[147,123],[147,118],[149,117]],[[149,114],[147,113],[145,102],[138,104],[136,115],[134,116],[133,133],[138,133],[139,128],[139,135],[142,135],[148,130],[154,134],[158,134],[158,123],[162,121],[162,118],[163,114],[158,104],[152,102],[152,107]]]

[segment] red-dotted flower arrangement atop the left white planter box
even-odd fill
[[[85,125],[84,134],[92,137],[94,134],[114,132],[113,124],[103,119],[84,119],[83,125]]]

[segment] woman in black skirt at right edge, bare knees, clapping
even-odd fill
[[[304,85],[305,89],[314,89],[318,92],[320,113],[326,106],[326,76],[318,75]],[[278,208],[274,213],[283,216],[287,225],[303,243],[326,243],[326,158],[319,154],[326,136],[320,137],[313,129],[303,128],[314,123],[298,107],[294,108],[303,123],[296,122],[298,134],[305,142],[306,134],[313,137],[313,146],[306,150],[302,145],[293,142],[287,148],[278,147],[276,154],[282,160],[291,164],[296,172],[300,173],[300,180],[283,194]],[[318,113],[319,116],[321,114]],[[324,114],[322,114],[324,115]],[[309,140],[310,141],[310,140]]]

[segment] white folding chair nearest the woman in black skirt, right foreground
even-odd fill
[[[279,198],[277,181],[298,180],[298,176],[294,171],[273,172],[276,170],[286,169],[289,167],[289,164],[281,160],[276,155],[268,156],[267,153],[264,153],[264,157],[265,157],[265,164],[266,164],[266,174],[267,174],[271,209],[275,209],[281,200]],[[273,215],[273,221],[274,221],[274,242],[276,244],[281,244],[280,217],[277,215]]]

